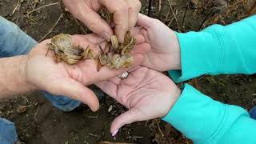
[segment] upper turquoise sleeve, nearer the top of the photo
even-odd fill
[[[182,70],[169,71],[175,82],[202,74],[256,73],[256,16],[177,36]]]

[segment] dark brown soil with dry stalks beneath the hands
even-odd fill
[[[18,24],[32,38],[40,41],[55,34],[86,34],[81,22],[62,14],[57,0],[1,0],[0,15]],[[161,5],[159,5],[161,2]],[[171,7],[170,7],[171,2]],[[38,7],[43,7],[37,10]],[[31,10],[34,12],[30,13]],[[148,14],[148,1],[142,1],[142,13]],[[160,10],[160,11],[159,11]],[[244,18],[246,3],[238,0],[158,0],[152,2],[150,15],[158,18],[173,30],[186,32],[202,30],[214,23],[229,24]],[[175,15],[175,17],[174,17]],[[202,93],[212,98],[250,110],[256,104],[255,75],[203,76],[190,81]],[[95,86],[91,88],[98,93]],[[113,110],[108,112],[109,107]],[[110,135],[110,124],[125,111],[110,97],[101,102],[98,112],[81,106],[72,112],[57,110],[40,91],[17,95],[0,102],[0,116],[15,122],[18,138],[28,144],[73,144],[106,141],[128,143],[192,143],[166,122],[154,119],[134,122],[122,128],[116,137]],[[102,142],[104,143],[104,142]]]

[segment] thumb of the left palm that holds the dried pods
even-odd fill
[[[50,90],[54,90],[54,94],[66,95],[70,98],[87,104],[91,110],[96,111],[99,108],[99,102],[94,92],[83,86],[81,83],[71,78],[65,78],[52,82]]]

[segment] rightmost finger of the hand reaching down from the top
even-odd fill
[[[127,5],[129,6],[129,30],[132,29],[137,20],[138,20],[138,13],[142,8],[142,3],[138,0],[125,0]]]

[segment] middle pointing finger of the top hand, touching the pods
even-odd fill
[[[128,7],[124,1],[99,0],[106,9],[113,14],[115,24],[115,34],[118,36],[118,41],[123,42],[126,32],[129,30],[129,14]]]

